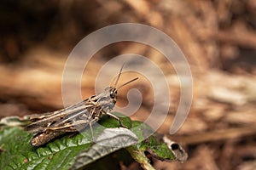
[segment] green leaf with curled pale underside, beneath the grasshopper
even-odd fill
[[[0,169],[79,169],[122,148],[127,148],[133,157],[133,152],[140,152],[137,156],[142,156],[140,154],[148,150],[160,160],[172,159],[173,155],[169,153],[172,151],[166,144],[150,137],[154,132],[151,127],[114,114],[121,116],[121,124],[128,128],[120,127],[119,122],[109,116],[102,116],[99,124],[93,126],[96,143],[91,140],[90,128],[86,128],[72,137],[65,135],[34,147],[30,144],[33,134],[26,133],[21,127],[8,127],[13,125],[12,122],[5,123],[5,128],[0,131]]]

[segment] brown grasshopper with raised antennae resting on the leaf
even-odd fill
[[[59,111],[47,112],[44,114],[35,114],[30,116],[31,124],[27,125],[26,131],[29,133],[37,133],[31,141],[34,146],[40,146],[48,143],[56,137],[68,133],[83,130],[88,125],[93,140],[92,124],[97,122],[102,115],[108,115],[119,121],[118,116],[114,116],[110,111],[116,103],[117,92],[126,84],[136,81],[138,77],[129,82],[125,82],[118,88],[117,83],[122,73],[124,65],[119,71],[116,82],[113,87],[105,88],[101,94],[90,96],[75,105],[71,105]]]

